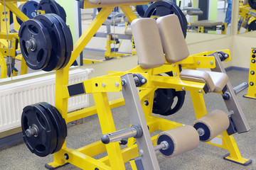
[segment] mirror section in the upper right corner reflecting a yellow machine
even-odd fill
[[[256,36],[256,1],[243,0],[239,2],[238,34]]]

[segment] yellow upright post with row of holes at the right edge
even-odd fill
[[[256,50],[256,48],[251,49],[250,71],[249,71],[249,79],[248,79],[249,87],[248,87],[247,95],[245,95],[244,97],[256,99],[256,62],[255,62],[256,54],[252,52],[253,50]]]

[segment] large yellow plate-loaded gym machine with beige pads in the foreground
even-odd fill
[[[129,13],[129,5],[134,1],[127,0],[124,2],[127,3],[126,5],[105,0],[84,1],[84,3],[98,3],[100,5],[97,6],[102,7],[102,10],[95,18],[97,22],[92,21],[92,25],[85,30],[78,42],[75,42],[68,64],[61,68],[51,67],[56,69],[55,107],[47,103],[26,106],[21,118],[23,138],[31,152],[41,157],[54,153],[54,161],[46,164],[48,169],[55,169],[67,163],[81,169],[125,169],[124,162],[129,161],[133,169],[159,169],[154,150],[160,150],[166,157],[174,157],[197,147],[199,140],[227,149],[230,153],[225,155],[224,159],[243,165],[251,164],[252,160],[241,156],[233,137],[234,133],[247,132],[250,127],[221,64],[221,61],[230,60],[230,52],[223,50],[188,56],[181,23],[176,15],[163,16],[157,20],[140,18],[134,21],[132,15],[129,15],[127,18],[132,23],[139,66],[127,72],[109,72],[106,76],[68,84],[69,67],[85,47],[86,42],[96,33],[96,28],[100,28],[105,17],[109,16],[115,6],[121,6],[124,14]],[[49,14],[40,17],[48,18],[50,21],[56,18]],[[60,21],[59,19],[58,22],[61,23]],[[31,22],[31,26],[34,24],[31,20],[26,22]],[[48,30],[40,21],[35,19],[33,22],[41,25],[41,30]],[[63,24],[63,28],[67,27]],[[23,29],[25,31],[30,27]],[[64,29],[62,31],[65,34]],[[45,33],[45,36],[48,36],[47,32]],[[27,38],[30,40],[29,36]],[[24,39],[25,42],[28,40]],[[36,46],[41,47],[37,43]],[[33,45],[28,47],[29,53]],[[44,67],[55,62],[50,57],[48,62],[44,62],[46,64]],[[196,70],[196,68],[209,68],[212,72]],[[169,73],[171,76],[159,76],[164,73]],[[139,94],[136,87],[139,87]],[[166,99],[163,106],[154,104],[156,89],[170,88],[175,91],[190,91],[196,114],[193,126],[152,115],[153,108],[159,111],[159,114],[171,114],[169,110],[172,110],[173,100]],[[107,92],[118,91],[122,91],[124,98],[114,101],[107,99]],[[210,113],[206,111],[203,94],[210,92],[223,95],[228,113],[220,110]],[[92,94],[95,106],[68,113],[68,98],[82,94]],[[128,108],[131,127],[116,132],[111,108],[123,105]],[[96,113],[102,129],[102,141],[79,149],[66,147],[65,124]],[[163,132],[150,137],[149,133],[156,130]],[[184,137],[188,140],[181,140]],[[221,144],[214,142],[214,137],[221,140]],[[120,149],[117,141],[127,138],[129,138],[127,147]],[[106,151],[106,157],[93,158]]]

